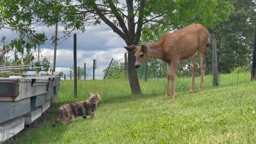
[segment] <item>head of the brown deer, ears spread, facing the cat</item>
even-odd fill
[[[124,48],[129,52],[135,53],[135,68],[139,68],[145,61],[150,59],[150,56],[148,54],[149,46],[147,44],[142,44],[141,46],[124,46]]]

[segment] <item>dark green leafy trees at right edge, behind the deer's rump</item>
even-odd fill
[[[253,31],[256,4],[253,0],[230,0],[234,5],[229,21],[211,29],[212,39],[218,46],[218,69],[230,73],[237,67],[250,69],[253,50]],[[206,50],[207,69],[212,69],[212,53]]]

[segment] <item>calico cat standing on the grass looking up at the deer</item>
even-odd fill
[[[56,126],[60,121],[63,124],[67,124],[77,116],[82,116],[83,119],[89,115],[91,117],[96,117],[95,109],[97,107],[97,103],[101,100],[98,92],[96,94],[91,93],[90,98],[85,101],[78,101],[74,103],[67,103],[59,108],[57,120],[52,124],[52,126]]]

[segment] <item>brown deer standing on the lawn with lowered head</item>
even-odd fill
[[[135,68],[150,59],[161,59],[167,62],[167,89],[165,97],[170,95],[170,80],[172,82],[172,98],[175,98],[174,78],[179,60],[190,59],[193,64],[192,84],[190,91],[194,91],[196,69],[198,64],[195,60],[197,52],[200,54],[201,83],[200,90],[203,90],[204,83],[204,52],[209,42],[210,34],[202,25],[193,24],[184,27],[173,33],[165,34],[155,43],[142,44],[141,46],[125,46],[127,51],[135,52]]]

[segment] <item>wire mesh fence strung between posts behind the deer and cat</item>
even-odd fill
[[[106,56],[106,55],[105,55]],[[113,62],[110,65],[111,59]],[[67,64],[67,61],[62,61]],[[73,60],[70,59],[70,68],[63,71],[66,79],[63,77],[61,82],[60,95],[74,97],[74,68]],[[93,63],[95,63],[93,65]],[[211,65],[211,63],[207,63]],[[109,67],[110,65],[110,67]],[[128,95],[131,94],[129,78],[127,76],[127,66],[124,55],[108,55],[107,59],[79,59],[77,60],[78,80],[77,96],[84,98],[91,92],[99,92],[101,95]],[[106,79],[103,77],[109,67]],[[94,68],[94,70],[93,70]],[[207,69],[211,71],[211,69]],[[94,73],[93,73],[94,71]],[[183,60],[179,63],[177,77],[175,78],[175,90],[177,93],[189,91],[191,84],[191,63],[189,60]],[[150,60],[137,69],[141,92],[143,94],[165,94],[167,78],[166,64],[161,60]],[[195,90],[199,90],[199,68],[195,81]],[[235,85],[237,83],[250,82],[250,73],[246,70],[238,69],[231,74],[219,74],[219,84]],[[204,87],[213,86],[213,77],[211,73],[206,73]],[[60,97],[61,100],[61,97]]]

